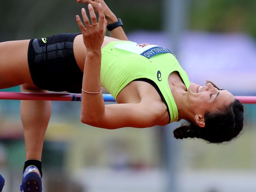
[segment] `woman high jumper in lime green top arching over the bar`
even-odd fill
[[[185,119],[189,123],[174,130],[177,139],[222,143],[237,137],[243,105],[230,92],[209,81],[190,82],[167,48],[129,41],[103,0],[77,2],[88,4],[91,17],[90,23],[84,8],[84,24],[76,16],[81,33],[0,43],[0,89],[21,85],[22,92],[82,93],[80,120],[94,127],[144,128]],[[102,87],[118,104],[105,106]],[[50,101],[21,101],[24,192],[42,191],[41,153],[50,113]]]

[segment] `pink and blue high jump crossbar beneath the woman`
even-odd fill
[[[256,104],[256,96],[235,96],[241,103]],[[0,99],[5,100],[40,100],[40,101],[81,101],[81,94],[74,93],[21,93],[0,92]],[[115,102],[110,94],[103,94],[106,102]]]

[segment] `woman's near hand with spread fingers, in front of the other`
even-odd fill
[[[77,24],[82,32],[84,45],[86,46],[87,52],[98,51],[98,50],[101,50],[101,45],[104,41],[106,28],[107,28],[107,21],[103,13],[103,7],[101,6],[100,3],[97,5],[97,9],[99,13],[98,23],[97,23],[95,12],[93,11],[93,7],[91,4],[88,4],[88,9],[89,9],[92,25],[90,24],[90,21],[86,15],[86,11],[84,8],[82,8],[82,17],[83,17],[85,26],[78,15],[76,16]]]

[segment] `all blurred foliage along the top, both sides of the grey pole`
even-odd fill
[[[256,38],[255,0],[183,0],[192,30],[247,32]],[[106,0],[121,18],[126,32],[164,28],[164,0]],[[75,15],[83,4],[75,0],[0,1],[0,41],[79,32]]]

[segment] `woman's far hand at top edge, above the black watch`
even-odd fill
[[[103,7],[103,12],[108,24],[118,21],[116,15],[108,8],[104,0],[76,0],[78,3],[91,4],[95,13],[98,13],[98,4],[100,3]]]

